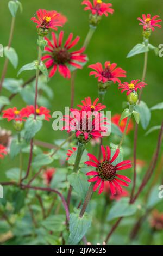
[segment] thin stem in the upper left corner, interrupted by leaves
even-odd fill
[[[15,26],[15,17],[12,17],[11,28],[10,28],[10,35],[9,35],[9,42],[8,42],[8,48],[10,48],[10,46],[11,46],[11,42],[12,42],[12,38],[13,38],[13,33],[14,33],[14,26]],[[1,77],[1,81],[0,81],[0,92],[2,90],[2,84],[3,84],[4,78],[5,78],[5,74],[7,72],[8,63],[9,63],[8,58],[5,58],[4,67],[3,67],[3,71],[2,71],[2,77]]]

